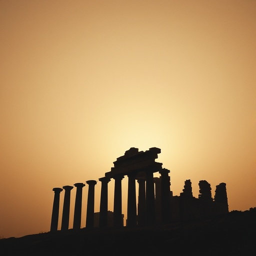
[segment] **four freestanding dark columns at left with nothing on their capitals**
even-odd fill
[[[88,184],[88,199],[87,199],[87,212],[86,212],[86,226],[92,227],[94,222],[94,186],[96,180],[87,180]],[[81,226],[81,205],[82,205],[82,188],[85,186],[84,183],[75,183],[76,194],[74,203],[74,218],[73,218],[73,229],[79,229]],[[58,226],[58,215],[59,215],[59,195],[64,189],[64,201],[63,211],[61,219],[61,230],[67,230],[69,225],[69,212],[70,212],[70,191],[73,186],[54,187],[53,206],[51,214],[50,231],[56,231]]]

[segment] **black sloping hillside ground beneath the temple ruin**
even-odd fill
[[[256,207],[164,225],[0,239],[0,255],[256,255]]]

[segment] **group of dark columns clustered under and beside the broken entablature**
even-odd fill
[[[169,170],[161,169],[160,178],[160,198],[161,198],[161,222],[168,223],[170,221],[170,182]],[[128,198],[127,198],[127,226],[151,225],[155,223],[155,198],[154,198],[154,179],[153,171],[148,170],[145,178],[136,178],[137,173],[129,173],[128,176]],[[122,226],[122,199],[121,199],[121,180],[123,175],[117,174],[114,179],[114,209],[113,209],[113,225],[114,227]],[[138,208],[136,207],[136,190],[135,180],[138,186]],[[99,178],[101,181],[100,193],[100,212],[99,226],[107,226],[107,183],[110,181],[108,177]]]

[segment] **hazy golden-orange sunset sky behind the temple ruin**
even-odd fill
[[[173,195],[225,182],[229,210],[256,206],[255,0],[0,0],[0,59],[0,238],[49,231],[52,188],[130,147],[161,149]]]

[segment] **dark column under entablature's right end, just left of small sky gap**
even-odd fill
[[[146,171],[146,224],[155,223],[153,171]]]

